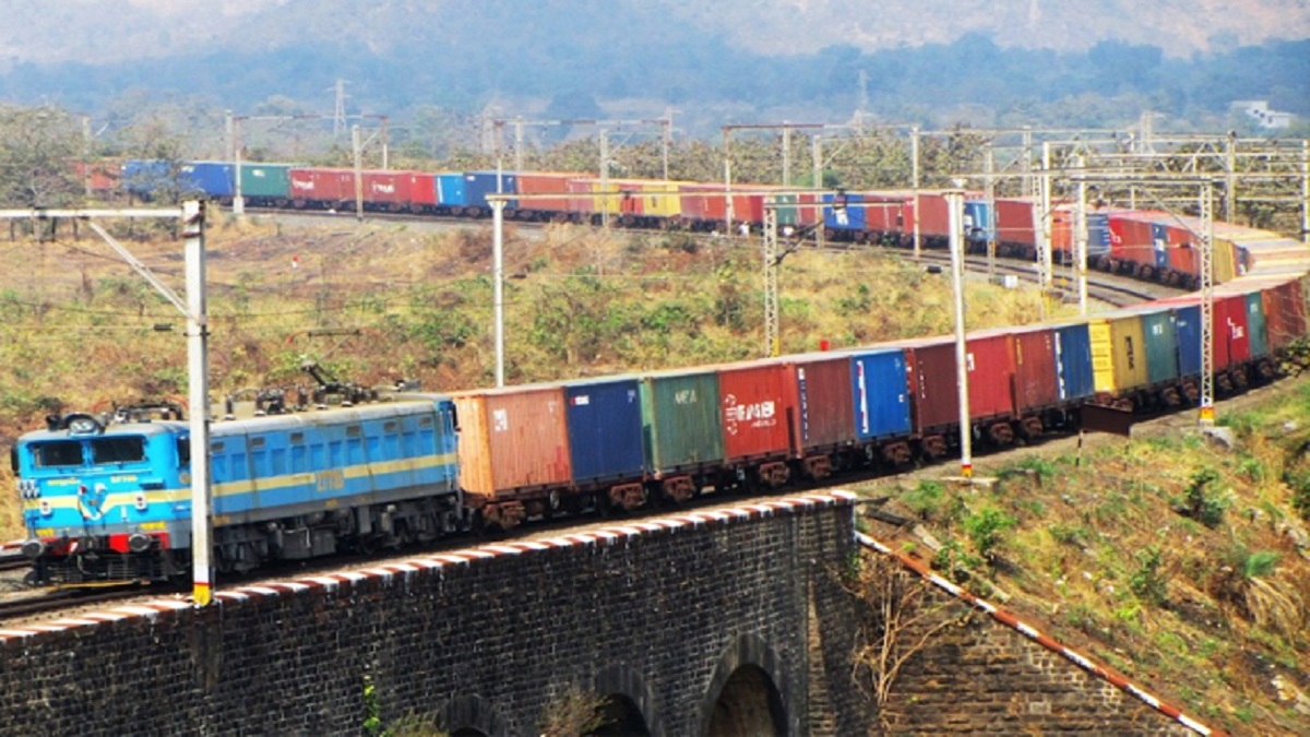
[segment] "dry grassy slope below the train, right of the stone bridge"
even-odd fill
[[[1186,413],[1132,439],[982,458],[977,473],[1000,479],[989,490],[942,483],[950,464],[870,484],[946,552],[875,532],[939,569],[954,559],[975,591],[1210,725],[1305,734],[1310,376],[1222,405],[1220,425],[1235,433],[1233,448],[1205,441]]]

